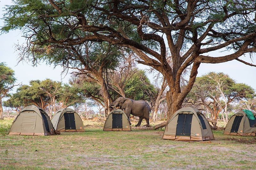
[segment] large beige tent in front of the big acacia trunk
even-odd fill
[[[204,141],[214,139],[212,128],[204,115],[192,107],[176,111],[164,129],[163,139]]]

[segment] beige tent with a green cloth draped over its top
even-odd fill
[[[252,114],[255,120],[249,119],[244,111],[237,112],[229,119],[224,135],[256,136],[256,113]]]

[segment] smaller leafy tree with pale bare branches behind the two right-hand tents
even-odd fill
[[[240,100],[251,98],[254,90],[251,86],[236,83],[224,73],[210,72],[204,76],[196,78],[196,82],[188,98],[194,100],[195,103],[204,105],[212,115],[212,121],[216,126],[219,113],[224,109],[228,122],[227,107],[231,102],[239,102]]]

